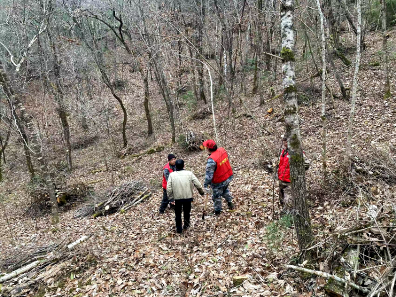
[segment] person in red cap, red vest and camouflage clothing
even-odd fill
[[[202,146],[209,151],[203,188],[206,193],[209,193],[209,186],[212,188],[214,213],[218,215],[221,213],[222,209],[222,197],[226,199],[230,209],[234,208],[232,202],[234,197],[228,189],[233,178],[233,172],[227,151],[224,148],[217,148],[216,143],[211,139],[204,141]]]

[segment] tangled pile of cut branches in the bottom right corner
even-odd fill
[[[384,212],[379,217],[370,205],[365,210],[371,218],[366,223],[350,229],[340,226],[308,248],[317,253],[317,263],[285,267],[310,275],[305,285],[312,291],[324,289],[329,296],[395,296],[394,214]]]

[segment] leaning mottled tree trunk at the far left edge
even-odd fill
[[[39,143],[39,134],[35,127],[33,126],[33,123],[31,121],[31,117],[29,116],[28,112],[26,111],[23,102],[19,99],[19,95],[15,93],[14,89],[11,86],[10,80],[8,78],[7,73],[5,72],[4,65],[2,61],[0,60],[0,84],[3,86],[4,90],[7,90],[6,92],[10,94],[10,102],[13,105],[14,102],[16,103],[17,108],[19,109],[21,113],[22,119],[25,121],[26,126],[28,127],[28,131],[33,143],[33,151],[37,157],[37,160],[40,163],[40,168],[43,171],[43,177],[45,180],[45,183],[47,185],[47,190],[49,193],[49,200],[51,203],[51,218],[52,218],[52,224],[57,224],[59,223],[59,214],[58,214],[58,203],[56,201],[56,195],[55,195],[55,190],[53,187],[53,182],[51,179],[51,176],[49,174],[49,170],[47,167],[47,162],[46,158],[42,152],[41,145]]]

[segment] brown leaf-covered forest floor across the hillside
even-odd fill
[[[363,52],[357,106],[353,149],[356,155],[364,154],[371,149],[385,149],[396,155],[396,31],[390,32],[390,79],[393,97],[384,100],[381,36],[370,33],[366,38],[367,49]],[[353,61],[353,50],[348,57]],[[380,62],[380,66],[376,65]],[[308,65],[312,68],[312,65]],[[337,66],[342,67],[337,60]],[[297,81],[306,78],[304,61],[297,61]],[[279,69],[278,65],[278,69]],[[247,90],[251,90],[252,73],[246,76]],[[340,75],[346,87],[350,86],[353,67],[344,68]],[[133,74],[131,74],[131,78]],[[140,85],[140,81],[136,84]],[[326,238],[345,223],[345,227],[356,224],[356,204],[344,203],[342,189],[337,189],[338,169],[344,158],[347,125],[350,104],[340,98],[336,99],[336,110],[331,109],[327,96],[328,128],[328,170],[330,186],[324,186],[321,170],[321,119],[319,78],[312,80],[315,87],[312,92],[311,82],[298,84],[301,90],[311,92],[310,100],[299,106],[301,133],[304,151],[311,161],[307,171],[308,203],[312,228],[317,241]],[[335,94],[340,94],[334,76],[330,85]],[[192,208],[192,226],[183,235],[178,236],[174,227],[174,214],[167,210],[164,215],[158,214],[162,198],[161,171],[166,163],[168,153],[175,153],[183,158],[186,169],[192,170],[203,182],[207,153],[187,152],[177,144],[169,146],[170,127],[167,124],[167,113],[159,92],[151,87],[151,112],[155,139],[146,139],[143,91],[135,89],[133,96],[130,90],[120,92],[128,113],[128,139],[136,152],[148,148],[164,146],[161,152],[144,155],[141,158],[127,156],[119,159],[111,157],[109,141],[103,123],[91,127],[84,134],[77,122],[71,120],[71,133],[74,141],[98,133],[99,139],[87,148],[73,150],[71,173],[59,169],[53,173],[56,183],[66,185],[83,182],[94,187],[97,196],[106,195],[112,185],[121,185],[129,180],[146,182],[154,195],[147,201],[138,204],[125,213],[93,219],[73,218],[76,205],[60,214],[61,222],[55,227],[49,224],[49,212],[46,215],[32,217],[26,213],[30,198],[26,194],[29,178],[25,171],[23,159],[14,161],[13,168],[4,172],[5,181],[1,185],[3,203],[0,211],[0,250],[1,259],[15,253],[25,252],[29,247],[47,246],[61,241],[72,242],[82,235],[93,234],[87,242],[79,245],[74,251],[72,265],[61,282],[51,283],[39,288],[43,296],[310,296],[304,281],[298,274],[286,271],[282,265],[289,263],[298,255],[298,245],[292,223],[288,217],[273,224],[273,207],[277,206],[277,191],[273,204],[273,175],[265,170],[265,161],[276,158],[281,135],[284,134],[282,122],[282,98],[270,99],[269,86],[264,85],[267,99],[264,106],[259,106],[258,95],[241,93],[241,98],[260,124],[272,132],[261,137],[258,125],[245,116],[246,109],[239,98],[235,97],[236,113],[229,113],[227,100],[215,104],[216,121],[220,124],[219,140],[230,155],[234,168],[234,180],[231,191],[235,197],[236,209],[223,211],[219,217],[208,215],[201,220],[203,198],[196,195]],[[280,73],[274,83],[276,94],[281,92]],[[32,99],[33,100],[33,99]],[[36,99],[40,100],[40,98]],[[137,103],[139,102],[139,103]],[[48,103],[49,104],[49,103]],[[33,105],[33,104],[32,104]],[[38,104],[37,106],[40,106]],[[272,107],[273,114],[267,116],[267,109]],[[46,154],[49,167],[62,159],[62,147],[59,123],[55,110],[48,106],[47,118],[49,136],[45,138]],[[184,131],[196,131],[213,136],[212,119],[191,120],[191,110],[183,105]],[[120,110],[114,103],[112,109],[113,126],[120,126]],[[53,115],[51,115],[53,113]],[[115,117],[117,115],[117,117]],[[36,116],[44,116],[39,108]],[[53,119],[51,119],[51,117]],[[165,123],[165,124],[164,124]],[[99,126],[99,128],[98,128]],[[120,134],[119,130],[115,131]],[[116,137],[118,137],[116,135]],[[121,144],[120,137],[117,139]],[[271,151],[272,156],[268,154]],[[7,149],[8,150],[8,149]],[[17,146],[9,148],[14,155],[22,154]],[[264,155],[264,156],[263,156]],[[108,171],[104,170],[104,158],[107,158]],[[11,158],[11,157],[9,157]],[[15,159],[17,159],[15,157]],[[375,184],[373,184],[375,185]],[[392,205],[395,203],[395,186],[381,186],[379,195],[369,203]],[[275,183],[277,189],[277,183]],[[326,191],[331,189],[331,193]],[[385,195],[385,193],[390,195]],[[384,195],[382,195],[384,194]],[[387,200],[384,197],[387,197]],[[226,203],[223,201],[223,208]],[[366,209],[360,210],[359,219],[367,218]],[[351,215],[352,214],[352,215]],[[277,215],[275,215],[277,217]],[[233,288],[233,276],[248,275],[251,279],[243,286]],[[222,292],[219,294],[219,292]],[[34,295],[32,291],[30,294]],[[224,295],[222,295],[224,294]],[[324,294],[322,291],[315,293]]]

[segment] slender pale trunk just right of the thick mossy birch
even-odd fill
[[[322,33],[322,108],[321,108],[321,119],[322,119],[322,167],[324,180],[327,179],[327,166],[326,166],[326,38],[325,38],[325,26],[324,16],[322,8],[320,7],[320,1],[316,0],[318,5],[319,17],[320,17],[320,31]]]

